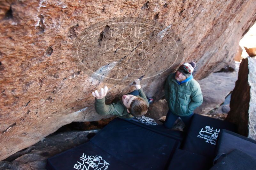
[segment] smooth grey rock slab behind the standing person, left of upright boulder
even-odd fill
[[[207,114],[213,109],[219,108],[224,103],[225,97],[234,89],[239,70],[239,63],[236,63],[233,72],[212,73],[208,77],[199,80],[198,83],[203,93],[203,103],[194,112]],[[228,103],[227,103],[228,104]]]

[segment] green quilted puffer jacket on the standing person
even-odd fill
[[[174,115],[189,116],[203,103],[203,94],[195,79],[179,85],[175,80],[175,73],[172,73],[165,83],[165,99]]]

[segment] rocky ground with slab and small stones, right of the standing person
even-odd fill
[[[234,71],[224,68],[215,72],[199,82],[204,101],[195,110],[195,113],[224,120],[230,110],[230,96],[237,81],[239,64],[236,63]]]

